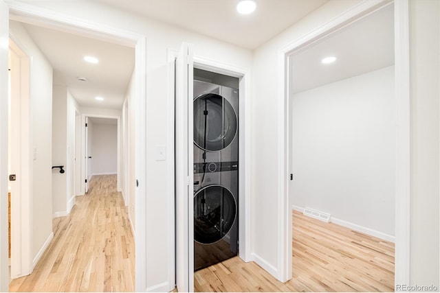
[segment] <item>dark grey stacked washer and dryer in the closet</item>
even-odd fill
[[[239,250],[239,91],[202,80],[193,102],[195,270]]]

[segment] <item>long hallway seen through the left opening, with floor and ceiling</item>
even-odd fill
[[[21,188],[25,192],[19,196],[19,189],[12,185],[16,179],[23,185],[25,172],[8,170],[14,175],[10,181],[10,291],[133,292],[136,188],[130,179],[135,168],[135,49],[21,21],[10,21],[10,35],[19,44],[11,42],[11,52],[19,52],[11,58],[13,62],[25,68],[25,58],[33,60],[28,74],[34,87],[16,86],[18,104],[12,106],[18,107],[14,110],[18,115],[11,115],[9,124],[12,137],[21,139],[9,139],[21,145],[10,147],[12,153],[32,157],[12,154],[19,160],[9,161],[21,164],[21,170],[30,172],[34,180],[44,178],[32,183],[30,190]],[[98,62],[87,63],[83,60],[87,54],[99,56]],[[11,78],[12,84],[25,76],[24,71],[21,75],[18,70],[11,72],[19,77]],[[32,102],[32,115],[30,99],[25,96],[31,91],[47,99]],[[20,106],[27,106],[28,112]],[[32,132],[17,131],[26,127]],[[26,141],[30,137],[32,143]],[[31,167],[24,168],[27,164]],[[21,237],[19,242],[17,237]],[[27,261],[28,266],[17,260]]]

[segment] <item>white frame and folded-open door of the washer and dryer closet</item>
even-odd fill
[[[252,261],[250,228],[250,71],[224,63],[193,56],[192,44],[184,43],[180,52],[169,51],[169,82],[175,91],[170,100],[173,112],[170,119],[175,126],[170,130],[170,139],[175,142],[175,160],[170,168],[175,169],[175,278],[177,290],[194,290],[194,173],[193,166],[193,73],[195,70],[209,71],[239,79],[239,257]],[[191,118],[188,118],[191,117]],[[179,146],[178,148],[176,146]],[[171,161],[171,160],[170,160]],[[173,233],[174,234],[174,233]]]

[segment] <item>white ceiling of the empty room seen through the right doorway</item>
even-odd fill
[[[338,58],[322,65],[327,56]],[[292,93],[394,64],[394,10],[388,5],[292,57]]]

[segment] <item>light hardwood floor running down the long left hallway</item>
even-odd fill
[[[135,248],[116,176],[94,176],[72,212],[53,222],[54,239],[10,292],[133,292]]]

